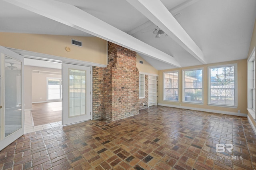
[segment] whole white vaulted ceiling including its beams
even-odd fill
[[[256,0],[0,0],[0,32],[98,36],[162,70],[246,59],[255,9]],[[71,22],[58,17],[69,12]],[[156,24],[168,36],[155,38]]]

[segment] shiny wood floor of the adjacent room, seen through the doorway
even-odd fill
[[[62,121],[62,102],[32,104],[34,126]]]

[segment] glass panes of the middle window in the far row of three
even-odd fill
[[[183,71],[183,101],[203,103],[203,69]]]

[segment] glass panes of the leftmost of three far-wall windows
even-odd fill
[[[179,72],[164,72],[164,100],[178,101]]]

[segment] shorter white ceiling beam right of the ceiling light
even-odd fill
[[[188,53],[198,59],[201,63],[207,64],[202,50],[190,38],[174,16],[162,4],[160,0],[126,0],[144,16],[161,28],[168,36],[183,47]]]

